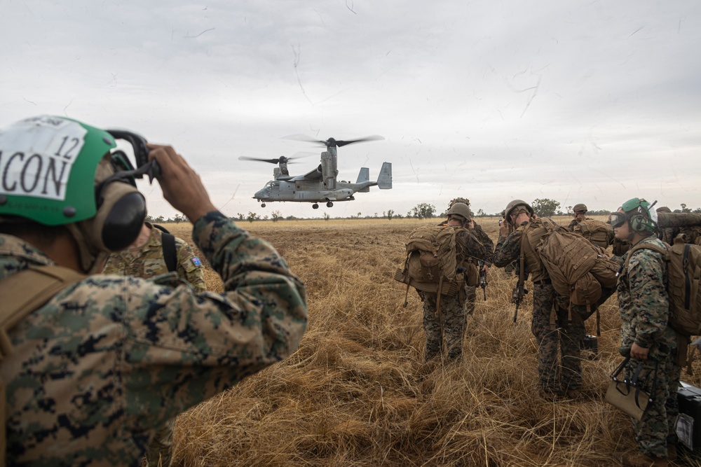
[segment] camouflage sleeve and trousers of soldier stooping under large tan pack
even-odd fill
[[[494,250],[494,265],[503,267],[519,259],[524,229],[521,225],[508,237],[499,237]],[[528,271],[524,271],[527,277]],[[538,380],[543,393],[558,394],[578,390],[582,386],[580,342],[585,336],[584,321],[569,319],[567,309],[558,305],[545,267],[538,272],[533,284],[533,319],[531,333],[538,342]],[[562,299],[560,299],[562,300]],[[551,323],[551,316],[552,321]],[[562,358],[558,368],[558,344]]]

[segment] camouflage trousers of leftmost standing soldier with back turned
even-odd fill
[[[463,355],[463,333],[465,332],[465,309],[458,295],[441,295],[440,314],[436,313],[435,293],[423,295],[423,329],[426,330],[426,361],[443,351],[443,337],[448,349],[448,358],[453,360]],[[441,324],[443,334],[441,335]]]

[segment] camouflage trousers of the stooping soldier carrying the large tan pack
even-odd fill
[[[534,284],[531,332],[538,342],[538,382],[540,389],[559,393],[582,386],[580,342],[585,326],[580,319],[569,320],[566,309],[557,308],[554,325],[550,315],[555,291],[551,284]],[[562,359],[558,365],[558,344]]]

